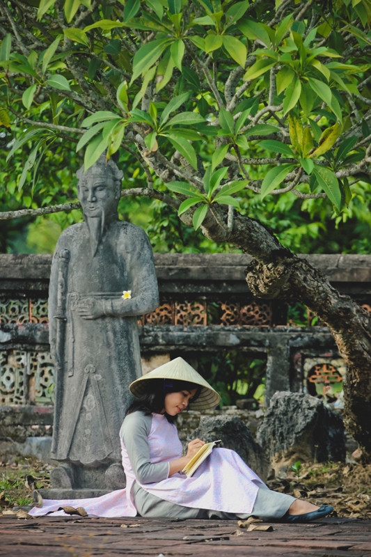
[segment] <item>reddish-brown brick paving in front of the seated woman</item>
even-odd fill
[[[236,521],[3,516],[0,556],[371,557],[368,519],[272,526],[248,532]]]

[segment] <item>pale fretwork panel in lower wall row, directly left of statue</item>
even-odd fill
[[[49,352],[31,352],[29,376],[29,401],[54,405],[54,363]]]

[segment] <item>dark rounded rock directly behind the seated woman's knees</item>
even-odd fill
[[[205,416],[191,434],[192,439],[202,439],[206,443],[221,439],[221,446],[230,448],[242,458],[265,482],[270,470],[261,446],[256,443],[251,431],[236,416]]]

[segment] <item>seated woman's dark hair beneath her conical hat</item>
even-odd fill
[[[192,397],[192,402],[200,395],[202,387],[189,381],[181,381],[178,379],[151,379],[146,385],[147,391],[141,395],[137,400],[134,400],[126,411],[125,417],[138,410],[144,412],[145,416],[148,414],[161,414],[165,405],[165,396],[168,393],[180,393],[180,391],[192,391],[197,389],[196,394]],[[177,416],[170,416],[165,412],[168,422],[174,423]]]

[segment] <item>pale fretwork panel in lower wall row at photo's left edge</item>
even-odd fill
[[[0,404],[24,405],[27,387],[27,354],[0,352]]]

